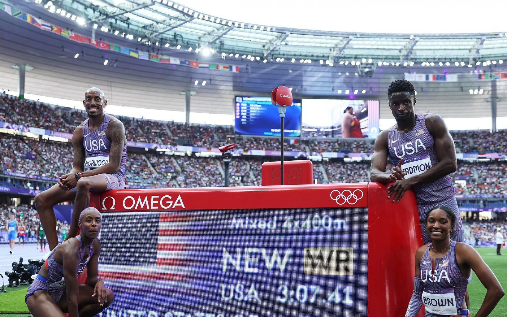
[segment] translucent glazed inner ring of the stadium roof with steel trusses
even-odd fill
[[[12,3],[12,2],[11,2]],[[505,32],[363,33],[257,25],[211,16],[167,0],[35,0],[50,12],[73,18],[97,32],[175,50],[245,58],[311,63],[372,59],[375,65],[405,62],[477,61],[505,58]],[[345,14],[345,13],[344,13]],[[276,21],[273,21],[276,24]],[[438,23],[438,20],[437,22]],[[232,54],[232,55],[231,55]]]

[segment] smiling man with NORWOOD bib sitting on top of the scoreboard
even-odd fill
[[[69,239],[78,234],[79,215],[89,203],[89,192],[125,188],[127,138],[123,123],[104,113],[107,100],[102,90],[96,87],[86,91],[83,105],[88,119],[73,133],[73,168],[59,177],[58,184],[35,195],[35,206],[50,250],[58,244],[55,204],[74,200]],[[85,171],[85,167],[90,170]]]

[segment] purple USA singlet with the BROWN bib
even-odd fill
[[[424,317],[456,314],[461,310],[468,285],[468,277],[463,275],[456,261],[456,241],[451,240],[449,251],[440,259],[429,257],[430,247],[431,243],[420,263],[424,285],[422,304],[426,309]]]

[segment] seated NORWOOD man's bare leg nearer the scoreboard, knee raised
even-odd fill
[[[68,230],[68,235],[65,240],[75,237],[78,234],[79,215],[89,204],[89,192],[105,192],[106,189],[107,181],[103,175],[99,174],[79,179],[76,185],[76,199],[74,200],[74,210],[72,211],[72,219],[70,220],[70,229]]]

